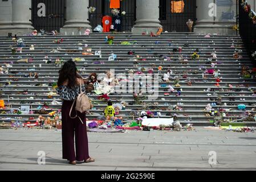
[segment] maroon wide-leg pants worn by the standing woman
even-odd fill
[[[86,129],[86,114],[77,111],[78,117],[70,118],[70,108],[73,101],[63,101],[62,104],[62,158],[70,161],[83,161],[88,158],[88,138]],[[72,109],[71,117],[75,117],[75,105]],[[75,147],[74,147],[75,134]]]

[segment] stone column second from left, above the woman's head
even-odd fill
[[[89,18],[89,0],[67,0],[67,20],[60,33],[63,35],[83,35],[90,26]]]

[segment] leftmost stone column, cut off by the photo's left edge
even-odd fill
[[[7,32],[12,32],[13,35],[24,35],[31,32],[32,27],[31,20],[31,0],[12,0],[2,1],[3,9],[1,9],[0,15],[0,35],[7,35]],[[8,10],[7,14],[3,12]]]

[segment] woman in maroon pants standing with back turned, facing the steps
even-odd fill
[[[90,158],[88,151],[88,138],[86,129],[86,114],[80,113],[72,108],[71,117],[69,115],[72,103],[80,93],[80,83],[82,83],[82,92],[85,90],[83,78],[78,75],[74,61],[68,60],[59,71],[57,92],[63,100],[62,104],[62,155],[63,159],[69,160],[70,164],[76,164],[77,161],[85,163],[94,162]],[[76,103],[74,104],[74,106]],[[82,119],[83,123],[80,121]],[[74,148],[75,134],[75,148]]]

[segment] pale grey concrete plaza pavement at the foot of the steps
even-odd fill
[[[256,133],[195,129],[88,133],[96,162],[75,166],[62,159],[60,130],[0,130],[0,170],[256,170]],[[210,151],[216,164],[209,164]]]

